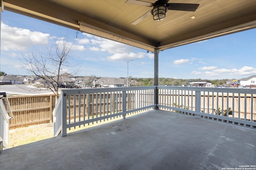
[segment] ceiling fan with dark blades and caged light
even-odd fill
[[[196,11],[199,4],[184,4],[184,3],[168,3],[169,0],[158,0],[154,3],[145,2],[141,0],[127,0],[126,4],[140,5],[153,7],[152,10],[149,10],[143,14],[140,18],[133,21],[131,24],[136,25],[140,21],[144,20],[146,17],[152,15],[153,20],[160,21],[165,18],[167,10],[178,10],[178,11]]]

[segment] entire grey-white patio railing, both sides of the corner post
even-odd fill
[[[62,90],[53,113],[54,135],[152,108],[256,128],[254,89],[146,86]]]

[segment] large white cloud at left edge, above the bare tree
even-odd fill
[[[1,50],[25,51],[32,45],[47,44],[49,38],[50,34],[48,33],[10,27],[1,22]]]

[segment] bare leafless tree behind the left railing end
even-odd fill
[[[54,49],[55,47],[55,49]],[[70,57],[70,51],[72,48],[71,43],[67,43],[66,37],[61,41],[55,40],[55,46],[48,49],[44,53],[32,52],[31,55],[23,55],[24,68],[30,73],[34,74],[41,79],[41,83],[38,86],[38,90],[42,88],[50,89],[58,99],[59,88],[61,84],[61,73],[63,67],[77,67],[77,65],[72,66],[68,61],[74,59]],[[75,75],[79,71],[79,67],[75,68],[70,74]]]

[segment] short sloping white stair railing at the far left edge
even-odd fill
[[[13,114],[6,93],[0,93],[0,96],[0,143],[2,142],[4,148],[8,148],[9,120],[13,118]]]

